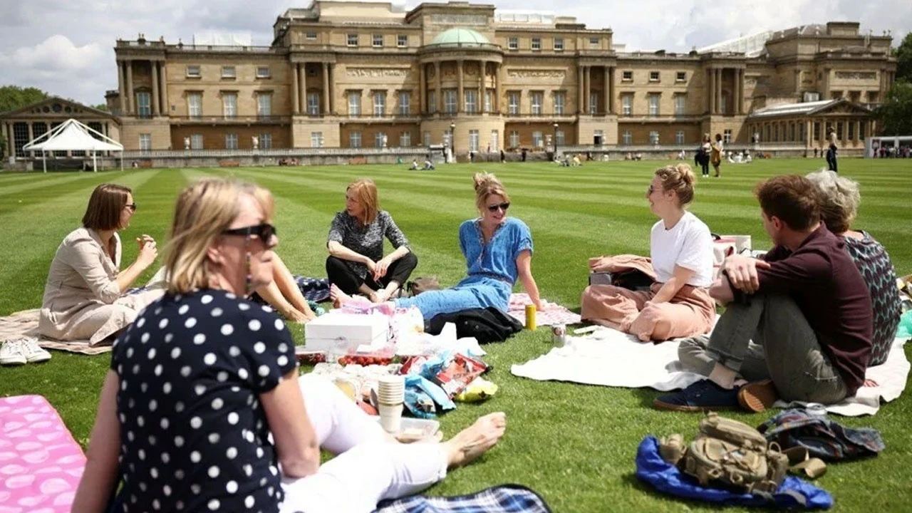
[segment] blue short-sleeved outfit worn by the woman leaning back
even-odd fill
[[[507,311],[518,276],[516,257],[526,250],[532,252],[529,227],[515,217],[507,217],[484,244],[481,219],[470,219],[459,227],[459,246],[469,276],[453,288],[396,299],[396,306],[418,307],[424,319],[465,309],[496,307]]]

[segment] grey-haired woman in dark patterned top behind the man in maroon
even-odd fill
[[[849,226],[858,213],[861,194],[858,183],[821,170],[807,175],[820,191],[821,210],[826,228],[845,240],[845,249],[855,260],[855,266],[865,277],[871,303],[874,305],[874,337],[872,338],[871,361],[868,366],[880,365],[896,338],[896,327],[902,314],[899,290],[896,288],[896,269],[884,246],[865,231],[855,231]]]

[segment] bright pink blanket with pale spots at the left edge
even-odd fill
[[[86,456],[40,395],[0,399],[0,513],[69,513]]]

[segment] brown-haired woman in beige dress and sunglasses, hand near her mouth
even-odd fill
[[[47,272],[38,331],[57,340],[97,344],[127,327],[161,289],[125,295],[158,256],[155,239],[137,237],[139,256],[120,270],[119,231],[130,226],[136,203],[130,187],[102,183],[88,199],[82,226],[70,232]]]

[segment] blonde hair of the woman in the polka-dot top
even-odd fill
[[[165,273],[171,294],[210,286],[212,269],[206,252],[240,213],[244,194],[260,205],[265,221],[272,219],[273,195],[254,183],[207,178],[181,191],[174,205],[171,240],[165,249]]]

